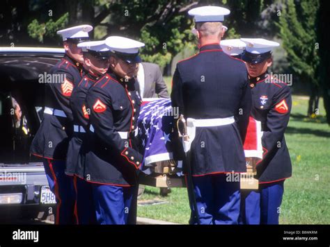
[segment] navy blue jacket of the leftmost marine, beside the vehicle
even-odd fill
[[[66,117],[44,113],[40,128],[31,144],[31,154],[54,160],[65,160],[73,131],[70,96],[74,85],[81,80],[83,70],[78,62],[64,56],[54,65],[50,74],[65,75],[65,80],[52,81],[45,85],[45,107],[63,110]]]

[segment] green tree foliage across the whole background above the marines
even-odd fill
[[[95,40],[109,35],[140,40],[146,43],[141,51],[143,60],[168,67],[176,54],[196,49],[196,38],[191,34],[194,22],[187,10],[224,6],[230,9],[223,23],[228,26],[226,39],[273,39],[278,35],[290,70],[314,88],[322,85],[328,92],[324,102],[329,102],[330,89],[324,76],[329,59],[317,49],[320,44],[320,49],[326,50],[329,43],[322,34],[327,28],[324,20],[329,18],[324,4],[322,0],[3,0],[0,43],[59,46],[58,29],[91,24]],[[317,19],[318,12],[322,15]],[[330,105],[326,108],[329,112]]]

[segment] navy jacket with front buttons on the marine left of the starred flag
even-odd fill
[[[90,132],[86,148],[84,178],[106,185],[136,185],[142,155],[134,136],[142,103],[135,79],[125,81],[107,73],[88,90]],[[118,132],[129,132],[127,138]]]

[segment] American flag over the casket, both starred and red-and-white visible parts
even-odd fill
[[[141,112],[138,119],[139,137],[141,138],[141,153],[144,160],[141,170],[146,173],[157,171],[157,164],[166,162],[173,167],[176,164],[174,173],[180,176],[182,164],[174,162],[173,146],[171,145],[171,131],[173,121],[177,121],[178,112],[171,107],[171,99],[144,99],[141,105]],[[261,124],[252,117],[249,119],[249,126],[244,143],[246,157],[262,158],[261,146]],[[168,162],[172,160],[172,162]],[[168,169],[168,171],[172,171]],[[159,171],[159,170],[158,170]],[[162,173],[162,172],[159,172]]]

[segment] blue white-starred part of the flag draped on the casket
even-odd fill
[[[141,106],[138,127],[144,157],[141,166],[143,172],[150,173],[153,162],[172,159],[173,121],[171,99],[147,100]]]

